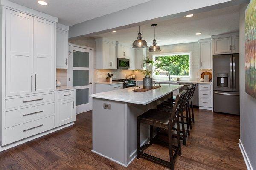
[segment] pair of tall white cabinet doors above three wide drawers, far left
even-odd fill
[[[54,42],[55,23],[6,9],[6,96],[54,91]]]

